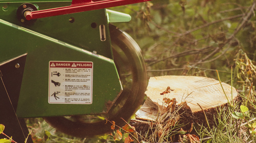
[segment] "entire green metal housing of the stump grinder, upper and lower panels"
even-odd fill
[[[130,16],[99,9],[21,22],[16,18],[16,10],[23,2],[0,1],[0,64],[27,54],[17,116],[30,118],[108,112],[122,92],[113,61],[108,23],[127,22]],[[32,0],[29,3],[39,9],[71,4],[64,0]],[[102,25],[105,28],[103,39],[100,33]],[[48,103],[49,61],[92,62],[92,103]]]

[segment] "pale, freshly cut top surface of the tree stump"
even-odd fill
[[[154,120],[158,110],[162,111],[167,106],[163,103],[163,98],[176,99],[177,104],[186,102],[192,112],[203,109],[214,108],[219,105],[232,101],[237,95],[234,87],[226,83],[221,84],[218,80],[199,77],[199,76],[159,76],[150,77],[147,91],[145,94],[148,99],[137,111],[138,119]],[[167,87],[170,87],[170,93],[165,93]],[[231,95],[232,90],[232,95]],[[225,96],[225,94],[226,96]],[[227,100],[228,98],[228,100]]]

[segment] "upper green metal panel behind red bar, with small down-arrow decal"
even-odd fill
[[[41,18],[35,23],[27,24],[16,18],[16,10],[21,4],[23,3],[0,3],[0,7],[8,5],[7,11],[1,10],[0,19],[113,59],[105,9]],[[37,5],[39,9],[70,5],[69,2],[34,2],[32,4]],[[71,23],[70,19],[74,19],[74,22]],[[100,25],[105,25],[106,28],[105,41],[100,40]]]

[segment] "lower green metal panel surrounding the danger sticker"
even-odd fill
[[[59,24],[60,26],[65,25],[61,24],[61,22]],[[41,25],[44,26],[44,24]],[[109,105],[116,100],[122,88],[112,59],[85,51],[82,49],[84,48],[83,46],[77,47],[70,43],[62,42],[62,40],[57,40],[4,20],[0,20],[0,27],[0,38],[2,40],[0,47],[0,63],[10,58],[28,53],[16,111],[18,117],[28,118],[104,113],[109,109]],[[107,27],[106,24],[106,28]],[[75,27],[67,28],[69,28],[72,33],[72,28]],[[49,31],[49,29],[53,30],[51,26],[39,26],[39,29],[45,29],[46,31]],[[54,31],[58,32],[58,30]],[[75,31],[78,32],[79,30]],[[98,30],[96,33],[98,33]],[[61,33],[56,35],[61,36]],[[94,36],[92,33],[87,33],[83,29],[80,29],[77,36],[72,34],[69,38],[76,39],[83,35],[85,41],[90,39],[91,36]],[[64,35],[62,36],[62,39],[67,37],[67,35]],[[92,40],[92,42],[101,42],[98,36],[96,37],[97,38]],[[76,43],[76,45],[77,44],[79,45],[79,43]],[[108,39],[105,44],[98,44],[97,46],[98,49],[109,49],[109,45],[110,42]],[[93,103],[49,104],[49,61],[92,61]]]

